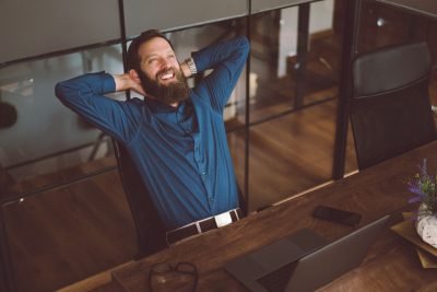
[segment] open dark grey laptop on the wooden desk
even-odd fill
[[[389,218],[332,243],[303,229],[229,261],[225,269],[255,292],[314,291],[357,267]]]

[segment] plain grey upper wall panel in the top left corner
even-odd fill
[[[120,37],[117,0],[0,1],[0,63]]]

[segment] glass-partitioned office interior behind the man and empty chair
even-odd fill
[[[345,1],[308,4],[307,25],[298,1],[1,2],[0,236],[17,291],[51,291],[137,252],[113,141],[60,104],[58,81],[121,73],[129,40],[152,27],[181,60],[247,35],[250,60],[224,117],[238,183],[256,211],[333,179]],[[363,0],[359,24],[357,54],[426,40],[435,60],[433,21]],[[351,131],[346,139],[344,175],[357,170]]]

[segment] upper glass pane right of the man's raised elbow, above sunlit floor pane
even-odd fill
[[[251,121],[338,95],[341,46],[332,30],[333,1],[311,4],[308,30],[299,32],[297,20],[305,20],[305,13],[292,7],[252,17]],[[308,51],[298,50],[305,38]]]

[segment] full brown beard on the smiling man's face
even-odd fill
[[[173,69],[176,81],[167,85],[160,83],[160,75],[164,74],[167,70],[169,69],[157,72],[156,80],[152,80],[146,73],[140,70],[139,78],[144,91],[165,104],[175,104],[187,100],[190,94],[190,87],[180,70]]]

